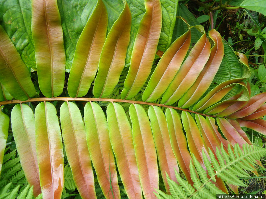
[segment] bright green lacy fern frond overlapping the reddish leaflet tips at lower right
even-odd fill
[[[265,154],[266,149],[248,144],[243,145],[242,149],[239,144],[235,144],[233,150],[228,145],[227,154],[221,144],[220,150],[216,148],[217,161],[210,149],[209,154],[202,150],[205,169],[194,154],[192,154],[194,165],[190,161],[190,176],[194,182],[193,186],[182,179],[175,170],[179,184],[171,180],[166,174],[171,196],[160,190],[156,190],[158,193],[154,193],[158,198],[216,198],[216,194],[225,193],[215,186],[215,177],[220,177],[232,185],[247,186],[238,177],[249,176],[245,170],[254,170],[252,165],[255,165],[255,162]]]

